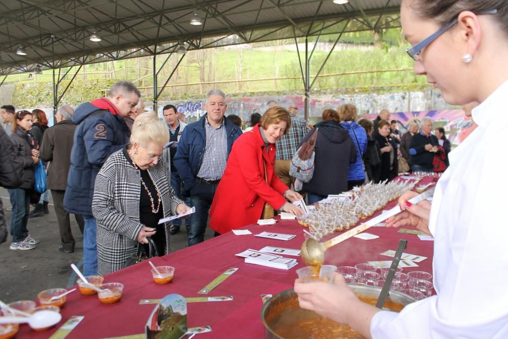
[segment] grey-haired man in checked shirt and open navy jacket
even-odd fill
[[[198,121],[183,130],[173,158],[183,182],[182,195],[190,195],[196,212],[190,222],[188,245],[203,242],[208,210],[226,169],[233,142],[242,130],[228,119],[226,95],[212,89],[206,95],[205,110]]]

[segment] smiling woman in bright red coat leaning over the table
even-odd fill
[[[210,227],[215,232],[224,234],[255,223],[261,218],[265,202],[275,210],[302,213],[287,201],[302,196],[285,186],[273,171],[275,142],[288,132],[290,125],[289,112],[272,107],[260,124],[235,141],[210,207]]]

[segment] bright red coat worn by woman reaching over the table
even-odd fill
[[[267,149],[265,149],[267,148]],[[279,209],[288,187],[275,175],[275,144],[265,143],[257,125],[233,144],[226,170],[210,207],[210,227],[220,234],[256,223],[265,202]],[[266,164],[268,184],[265,181]]]

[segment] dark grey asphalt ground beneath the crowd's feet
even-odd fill
[[[0,188],[0,196],[4,203],[7,226],[11,220],[11,207],[7,190]],[[40,239],[37,248],[30,251],[9,250],[11,236],[0,245],[0,300],[13,302],[16,300],[36,299],[40,291],[49,288],[65,288],[75,284],[75,274],[71,263],[81,265],[83,255],[83,237],[78,225],[71,216],[72,232],[76,239],[75,253],[58,251],[60,235],[50,195],[49,214],[44,217],[28,219],[28,230],[34,238]],[[171,252],[187,246],[187,234],[182,231],[171,236]],[[213,231],[207,229],[205,239],[213,237]]]

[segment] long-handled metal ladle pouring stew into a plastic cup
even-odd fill
[[[427,199],[428,197],[434,194],[434,188],[425,191],[422,194],[417,195],[416,197],[409,199],[408,201],[411,204],[418,204],[419,202]],[[317,266],[322,265],[325,262],[325,251],[331,248],[331,246],[338,244],[346,239],[351,238],[358,233],[365,231],[366,229],[371,228],[372,226],[382,223],[388,218],[393,217],[401,211],[400,206],[397,205],[389,211],[378,215],[377,217],[369,220],[368,222],[352,228],[351,230],[337,235],[334,238],[331,238],[325,242],[318,242],[315,239],[309,238],[306,239],[302,244],[302,259],[309,266]]]

